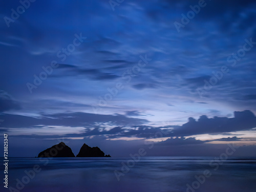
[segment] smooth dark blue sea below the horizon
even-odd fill
[[[1,186],[0,191],[256,191],[256,158],[131,159],[10,158],[9,188]]]

